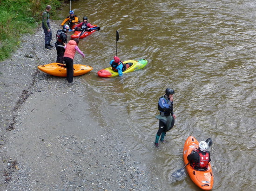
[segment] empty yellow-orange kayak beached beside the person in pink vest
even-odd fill
[[[46,65],[37,66],[39,70],[59,77],[66,77],[67,76],[67,69],[66,65],[60,63],[51,63]],[[81,76],[83,74],[88,73],[89,71],[93,70],[93,67],[82,65],[82,64],[74,64],[74,76]]]

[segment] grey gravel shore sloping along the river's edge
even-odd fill
[[[58,25],[51,26],[54,44]],[[70,85],[37,69],[56,59],[55,48],[44,47],[41,26],[20,40],[0,63],[0,190],[159,190],[143,165],[90,116],[79,78]],[[74,120],[81,125],[72,127]]]

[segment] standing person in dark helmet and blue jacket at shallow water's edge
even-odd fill
[[[159,98],[158,110],[160,115],[156,115],[155,118],[159,119],[159,129],[155,136],[155,146],[158,147],[158,140],[162,143],[166,143],[164,136],[166,132],[169,131],[175,123],[176,115],[173,112],[173,95],[174,90],[167,88],[165,89],[165,95]]]

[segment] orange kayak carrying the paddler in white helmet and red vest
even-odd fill
[[[185,164],[189,163],[189,160],[187,159],[188,155],[192,152],[193,147],[198,148],[198,141],[193,136],[189,136],[188,139],[185,142],[184,148],[183,148],[183,160]],[[212,189],[213,186],[213,173],[212,173],[212,167],[209,163],[207,171],[197,171],[192,166],[187,165],[186,170],[189,174],[189,177],[191,180],[200,187],[204,191],[209,191]]]

